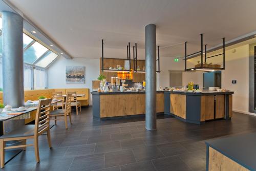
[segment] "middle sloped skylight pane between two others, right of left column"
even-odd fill
[[[29,47],[23,54],[24,62],[32,64],[36,59],[38,59],[42,54],[44,54],[48,49],[39,42],[35,42],[31,47]]]

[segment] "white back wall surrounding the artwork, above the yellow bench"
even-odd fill
[[[65,81],[66,66],[85,66],[86,83],[85,84],[67,84]],[[92,91],[92,80],[97,80],[99,76],[99,58],[74,58],[66,59],[58,57],[47,70],[48,88],[89,88]],[[89,104],[92,104],[90,96]]]

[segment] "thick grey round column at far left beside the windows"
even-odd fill
[[[24,106],[23,18],[2,11],[4,103],[13,108]]]

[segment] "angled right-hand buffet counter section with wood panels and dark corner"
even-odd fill
[[[190,123],[232,117],[234,92],[164,92],[164,114]]]

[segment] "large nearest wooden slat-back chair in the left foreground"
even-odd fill
[[[35,158],[36,162],[40,161],[39,158],[39,149],[38,149],[38,136],[47,132],[47,140],[49,147],[51,148],[51,136],[50,136],[50,108],[51,108],[52,99],[39,100],[36,117],[35,117],[35,125],[23,125],[16,130],[13,130],[3,136],[0,137],[0,165],[1,168],[5,165],[5,149],[11,148],[23,148],[26,150],[27,146],[33,146],[35,148]],[[34,144],[26,144],[27,139],[34,139]],[[14,145],[14,146],[6,146],[6,141],[15,141],[21,140],[23,141],[23,145]]]

